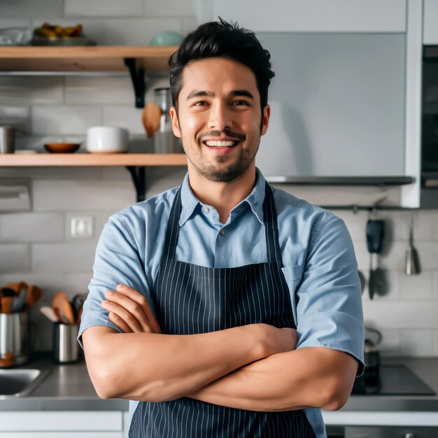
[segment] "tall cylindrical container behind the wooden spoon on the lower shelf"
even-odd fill
[[[172,131],[172,120],[169,109],[171,107],[170,88],[155,88],[155,103],[160,106],[160,127],[154,134],[155,153],[182,153],[181,139]]]

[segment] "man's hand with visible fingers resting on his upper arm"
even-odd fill
[[[161,333],[146,297],[127,285],[119,284],[115,289],[107,290],[101,303],[111,323],[124,333]]]

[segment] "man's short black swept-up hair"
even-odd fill
[[[170,92],[172,104],[177,107],[178,95],[182,87],[184,67],[197,59],[225,57],[241,62],[251,69],[257,81],[262,112],[268,101],[268,87],[274,78],[271,70],[271,55],[262,48],[253,31],[220,21],[201,24],[185,36],[178,50],[169,59]]]

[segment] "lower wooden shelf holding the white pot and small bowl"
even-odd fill
[[[185,154],[3,154],[1,166],[187,166]]]

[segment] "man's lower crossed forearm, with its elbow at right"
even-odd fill
[[[250,363],[188,397],[236,409],[340,409],[351,393],[358,362],[329,348],[299,348]]]

